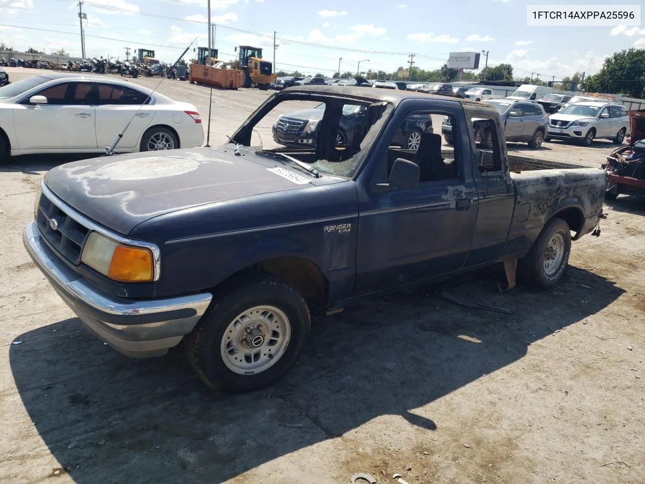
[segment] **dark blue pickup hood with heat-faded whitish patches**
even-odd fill
[[[46,186],[65,203],[125,235],[155,216],[304,188],[313,180],[270,158],[244,151],[235,156],[233,146],[85,159],[56,166],[45,176]]]

